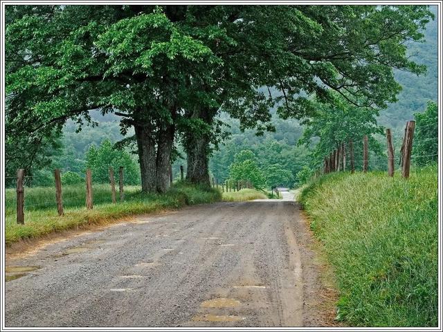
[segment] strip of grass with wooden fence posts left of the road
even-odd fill
[[[166,194],[141,194],[137,187],[125,190],[125,201],[116,204],[110,201],[109,186],[98,185],[93,188],[93,210],[84,209],[83,186],[66,186],[64,216],[57,216],[55,204],[45,205],[51,196],[52,188],[32,188],[25,191],[25,224],[16,223],[14,192],[6,192],[6,244],[24,238],[40,237],[51,232],[68,230],[80,225],[99,225],[111,223],[127,216],[145,214],[166,209],[177,209],[185,205],[213,203],[221,200],[218,190],[205,190],[202,187],[177,183]],[[10,192],[9,192],[10,191]],[[48,192],[50,191],[50,192]],[[51,196],[49,196],[51,195]],[[67,199],[71,197],[71,199]],[[53,206],[54,205],[54,206]]]

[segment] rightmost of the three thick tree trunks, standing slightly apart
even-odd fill
[[[197,183],[210,187],[209,180],[209,141],[208,135],[192,140],[187,148],[188,169],[186,179],[191,183]]]

